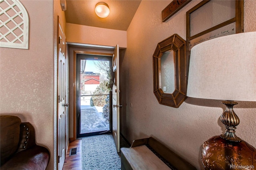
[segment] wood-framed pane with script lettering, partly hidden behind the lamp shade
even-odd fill
[[[220,36],[244,32],[244,0],[203,0],[186,12],[186,49]]]

